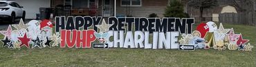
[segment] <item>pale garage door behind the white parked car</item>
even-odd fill
[[[50,8],[51,0],[11,0],[16,1],[19,5],[24,6],[26,18],[36,18],[39,14],[39,8]]]

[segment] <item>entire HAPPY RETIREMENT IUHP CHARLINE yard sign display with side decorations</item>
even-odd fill
[[[10,49],[60,48],[140,48],[217,49],[251,51],[249,40],[234,29],[219,28],[214,22],[201,23],[192,31],[194,18],[134,18],[56,16],[49,20],[9,25],[3,47]],[[12,28],[14,27],[14,29]],[[179,39],[179,36],[181,38]],[[179,40],[178,40],[179,39]]]

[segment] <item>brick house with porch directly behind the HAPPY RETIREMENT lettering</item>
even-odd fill
[[[64,15],[147,17],[156,13],[163,17],[167,3],[168,0],[52,0],[51,8],[67,11]]]

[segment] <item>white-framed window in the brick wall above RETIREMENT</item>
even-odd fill
[[[121,0],[121,6],[141,6],[141,0]]]

